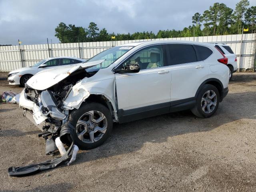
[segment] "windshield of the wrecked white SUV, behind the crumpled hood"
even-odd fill
[[[90,58],[86,62],[98,61],[98,60],[105,59],[104,62],[102,62],[101,64],[98,64],[98,65],[93,66],[92,68],[90,68],[90,71],[95,70],[95,69],[106,68],[106,67],[110,66],[112,63],[114,63],[123,54],[125,54],[126,52],[131,50],[132,48],[134,48],[134,46],[116,46],[116,47],[112,47],[112,48],[107,49],[103,52],[100,52],[99,54]]]

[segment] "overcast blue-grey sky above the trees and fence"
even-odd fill
[[[109,33],[182,30],[192,16],[214,2],[234,9],[239,0],[0,0],[0,44],[41,44],[54,37],[60,22],[87,28],[90,22]],[[256,0],[250,0],[256,6]]]

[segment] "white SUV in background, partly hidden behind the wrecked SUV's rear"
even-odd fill
[[[222,52],[228,58],[228,68],[229,68],[229,80],[231,80],[234,72],[237,71],[237,59],[236,54],[232,51],[230,46],[226,44],[215,44],[215,47]]]

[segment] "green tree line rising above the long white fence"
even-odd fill
[[[256,30],[256,6],[249,5],[248,0],[240,0],[233,10],[224,3],[214,3],[203,13],[195,13],[192,16],[192,25],[183,30],[159,30],[157,34],[152,31],[115,34],[108,33],[106,28],[99,30],[94,22],[90,22],[88,28],[61,22],[55,28],[55,36],[61,43],[72,43],[110,41],[113,37],[114,40],[137,40],[241,34],[243,27],[253,33]]]

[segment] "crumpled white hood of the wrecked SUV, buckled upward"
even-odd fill
[[[27,85],[30,86],[33,89],[36,90],[45,90],[58,82],[64,80],[64,78],[68,77],[71,73],[75,72],[78,69],[81,68],[90,68],[92,66],[96,66],[100,63],[102,63],[103,60],[98,61],[92,61],[92,62],[86,62],[86,63],[80,63],[78,65],[73,66],[63,66],[59,68],[52,68],[43,70],[41,72],[38,72],[34,76],[32,76],[28,82]]]

